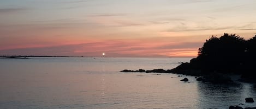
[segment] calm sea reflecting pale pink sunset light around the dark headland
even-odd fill
[[[0,109],[256,107],[256,85],[210,84],[194,76],[124,73],[172,69],[190,58],[31,57],[0,59]],[[188,78],[189,82],[180,81]]]

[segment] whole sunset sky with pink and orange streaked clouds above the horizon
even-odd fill
[[[256,33],[255,0],[1,0],[0,55],[196,57]]]

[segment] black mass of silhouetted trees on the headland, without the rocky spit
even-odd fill
[[[254,75],[256,71],[256,35],[249,40],[235,34],[212,36],[191,60],[195,69],[205,73],[237,73]],[[256,73],[255,73],[256,74]]]

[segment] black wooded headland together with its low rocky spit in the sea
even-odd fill
[[[227,33],[221,37],[212,36],[199,48],[198,56],[190,62],[181,63],[174,69],[145,72],[201,76],[199,81],[213,83],[231,82],[229,75],[239,74],[241,81],[256,82],[256,35],[249,40]]]

